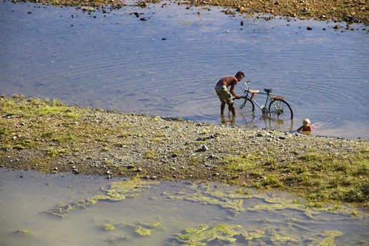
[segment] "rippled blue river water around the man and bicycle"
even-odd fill
[[[1,1],[0,93],[220,124],[213,87],[241,70],[251,88],[285,96],[295,117],[251,115],[236,101],[228,123],[287,131],[308,117],[323,123],[315,135],[368,139],[368,30],[336,24],[170,3],[88,14]]]

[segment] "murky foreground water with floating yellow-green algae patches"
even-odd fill
[[[5,169],[0,177],[1,245],[369,243],[367,213],[309,209],[281,193]]]

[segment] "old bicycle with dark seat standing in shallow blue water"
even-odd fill
[[[273,89],[264,89],[266,93],[260,92],[259,90],[251,90],[248,87],[248,83],[250,81],[245,82],[246,88],[243,90],[245,96],[241,96],[245,101],[241,104],[242,108],[247,108],[248,111],[254,112],[255,105],[261,109],[263,115],[270,115],[271,117],[275,116],[278,119],[292,119],[293,111],[290,105],[285,101],[285,97],[276,96],[272,94]],[[260,105],[255,101],[256,94],[266,95],[266,103],[264,105]],[[269,102],[269,106],[268,106]],[[268,108],[267,108],[268,106]]]

